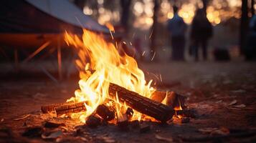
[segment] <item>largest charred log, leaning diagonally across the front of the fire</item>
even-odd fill
[[[125,102],[125,104],[132,109],[153,117],[158,121],[166,122],[174,115],[174,109],[172,107],[153,101],[147,97],[143,97],[136,92],[131,92],[117,84],[110,83],[108,93],[111,98],[115,98],[116,94],[118,94],[120,102]]]

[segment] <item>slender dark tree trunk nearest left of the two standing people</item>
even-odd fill
[[[156,56],[156,36],[157,36],[157,26],[158,26],[158,12],[160,8],[160,0],[154,0],[154,7],[153,7],[153,24],[151,26],[150,36],[151,39],[151,57]]]

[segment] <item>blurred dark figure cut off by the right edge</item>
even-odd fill
[[[247,61],[256,59],[256,15],[250,19],[245,58]]]

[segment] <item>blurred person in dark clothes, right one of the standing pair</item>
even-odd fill
[[[212,24],[207,19],[207,14],[203,9],[197,9],[196,15],[191,24],[191,51],[195,56],[195,61],[199,59],[199,46],[202,46],[203,58],[207,60],[208,40],[212,37]]]

